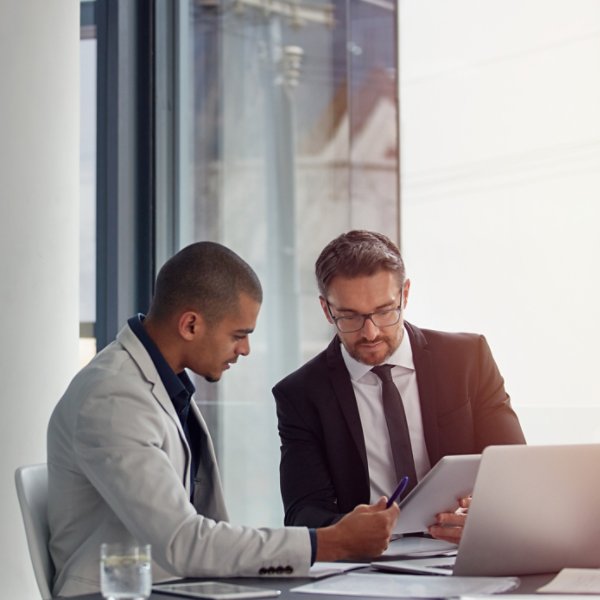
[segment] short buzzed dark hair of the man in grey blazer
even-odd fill
[[[252,267],[221,244],[197,242],[177,252],[158,272],[149,316],[161,321],[196,310],[208,323],[218,323],[235,311],[241,293],[262,302]]]

